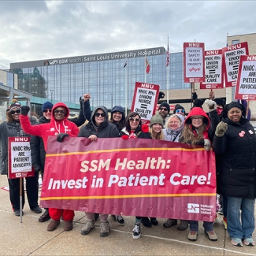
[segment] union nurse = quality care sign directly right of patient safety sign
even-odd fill
[[[223,88],[222,50],[205,51],[205,82],[200,83],[200,89]]]

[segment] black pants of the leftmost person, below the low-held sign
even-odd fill
[[[35,176],[28,177],[26,179],[27,198],[30,209],[38,206],[39,198],[39,173],[35,173]],[[9,183],[9,200],[12,203],[13,211],[20,210],[20,178],[8,179]],[[24,197],[24,179],[22,179],[22,209],[25,204]]]

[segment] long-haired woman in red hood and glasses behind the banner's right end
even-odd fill
[[[184,130],[179,142],[190,144],[192,147],[201,145],[205,150],[210,150],[209,139],[210,119],[201,107],[194,107],[188,113],[184,124]],[[190,224],[188,239],[196,241],[198,236],[198,221],[187,221]],[[205,233],[211,241],[217,241],[217,235],[213,231],[213,222],[203,221]]]

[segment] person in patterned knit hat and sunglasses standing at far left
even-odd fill
[[[28,133],[25,133],[20,125],[20,102],[17,102],[16,99],[13,99],[9,106],[9,111],[6,111],[6,121],[3,121],[0,124],[0,140],[2,143],[2,154],[1,154],[1,165],[0,171],[2,175],[8,174],[8,137],[22,137],[29,136]],[[28,123],[36,124],[36,118],[30,117]],[[35,172],[35,176],[26,177],[26,191],[28,204],[32,211],[35,213],[42,213],[41,208],[38,204],[39,198],[39,173]],[[22,179],[22,184],[23,183]],[[9,199],[13,207],[13,213],[16,216],[20,216],[20,178],[17,179],[8,179],[9,184]],[[24,186],[21,187],[22,190],[22,209],[25,204],[24,197]],[[24,214],[23,211],[21,212]]]

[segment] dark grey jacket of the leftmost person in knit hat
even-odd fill
[[[35,117],[30,117],[30,121],[32,124],[37,123],[37,119]],[[20,122],[17,121],[3,121],[0,124],[0,139],[2,143],[2,154],[0,157],[0,173],[7,174],[8,173],[8,137],[22,137],[29,136],[24,133]]]

